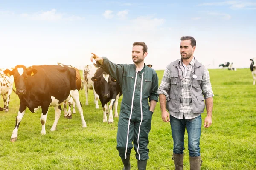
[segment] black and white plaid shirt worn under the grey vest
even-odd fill
[[[182,65],[181,60],[179,61],[179,64]],[[193,58],[191,62],[185,67],[186,71],[183,67],[180,67],[182,71],[182,76],[185,75],[183,78],[184,80],[181,80],[181,95],[180,95],[180,107],[179,107],[179,112],[172,112],[169,111],[169,113],[177,118],[177,119],[183,119],[183,116],[185,119],[193,119],[197,116],[200,115],[200,113],[193,113],[192,110],[192,102],[191,102],[191,95],[190,95],[190,86],[191,86],[191,73],[192,69],[195,65],[195,59]],[[186,73],[186,74],[185,74]],[[163,79],[161,82],[161,85],[159,86],[157,93],[158,94],[164,94],[166,96],[167,101],[170,100],[169,95],[166,91],[166,89],[170,88],[170,70],[166,68],[163,74]],[[207,99],[209,97],[213,97],[213,92],[212,92],[212,85],[210,82],[210,75],[209,71],[207,68],[204,68],[204,74],[203,78],[201,81],[201,88],[203,91],[204,99]]]

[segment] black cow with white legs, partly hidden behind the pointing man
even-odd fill
[[[117,105],[118,105],[118,99],[122,95],[122,91],[120,88],[120,85],[116,80],[111,77],[109,74],[107,74],[105,71],[103,71],[101,68],[99,68],[95,76],[91,78],[94,82],[93,86],[96,91],[96,93],[99,95],[100,102],[102,103],[102,110],[103,110],[103,122],[114,122],[113,119],[113,107],[115,107],[115,117],[118,117],[117,112]],[[108,102],[109,104],[109,111],[110,114],[108,116]]]

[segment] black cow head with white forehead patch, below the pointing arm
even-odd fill
[[[105,99],[110,97],[111,88],[116,89],[116,80],[105,72],[99,77],[92,77],[91,80],[97,84],[98,88],[101,88],[101,94],[98,95],[102,95]]]

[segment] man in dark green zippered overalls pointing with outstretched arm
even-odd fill
[[[138,160],[138,170],[145,170],[148,160],[148,133],[151,119],[158,102],[157,73],[144,64],[148,55],[144,42],[134,42],[132,60],[134,64],[114,64],[106,57],[93,54],[97,65],[119,82],[123,99],[117,130],[117,150],[124,164],[123,170],[130,170],[130,153],[133,148]],[[149,100],[148,100],[149,99]],[[150,105],[148,105],[148,101]]]

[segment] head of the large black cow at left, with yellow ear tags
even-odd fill
[[[26,94],[26,83],[29,76],[34,76],[37,73],[32,67],[26,68],[24,65],[17,65],[13,70],[6,69],[3,71],[7,76],[14,77],[15,87],[18,95]]]

